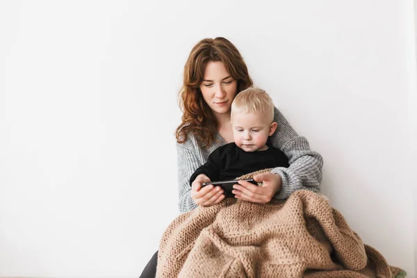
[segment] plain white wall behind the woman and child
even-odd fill
[[[275,2],[1,1],[0,276],[138,277],[178,215],[183,65],[222,35],[415,277],[413,1]]]

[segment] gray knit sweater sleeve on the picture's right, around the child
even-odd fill
[[[306,138],[298,136],[284,115],[275,108],[274,121],[277,131],[271,136],[274,147],[281,149],[288,157],[290,167],[276,167],[271,172],[279,174],[282,180],[281,190],[275,195],[277,199],[286,199],[295,190],[320,190],[323,159],[318,152],[311,151]]]

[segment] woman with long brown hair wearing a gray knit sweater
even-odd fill
[[[190,188],[190,177],[214,149],[233,142],[231,102],[251,85],[246,64],[229,40],[204,39],[193,47],[184,67],[183,87],[179,93],[183,116],[176,132],[181,213],[196,206],[212,206],[224,199],[220,187],[202,187],[204,177]],[[309,149],[306,138],[297,135],[277,108],[274,121],[278,127],[270,143],[286,154],[290,167],[277,167],[259,174],[255,179],[263,181],[262,187],[240,181],[234,191],[238,199],[265,204],[274,197],[286,199],[295,190],[317,192],[320,188],[320,154]],[[141,277],[155,276],[156,260],[155,254]]]

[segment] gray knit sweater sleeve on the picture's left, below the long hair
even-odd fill
[[[186,213],[197,207],[191,197],[190,177],[201,165],[197,152],[189,142],[177,142],[179,211]]]

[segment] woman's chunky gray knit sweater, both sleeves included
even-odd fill
[[[272,145],[281,149],[290,163],[288,168],[276,167],[272,170],[273,173],[279,174],[282,179],[281,190],[275,195],[275,198],[286,199],[291,193],[299,189],[318,192],[322,179],[322,156],[318,152],[310,150],[306,138],[297,135],[277,108],[275,108],[274,121],[277,122],[278,127],[271,136]],[[191,211],[197,206],[191,198],[191,175],[199,166],[206,163],[211,152],[225,144],[227,142],[219,133],[216,135],[215,142],[207,149],[200,147],[197,138],[190,133],[186,142],[183,142],[183,144],[177,143],[178,205],[181,213]]]

